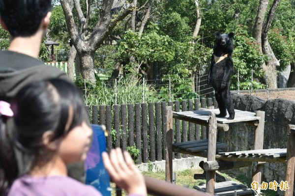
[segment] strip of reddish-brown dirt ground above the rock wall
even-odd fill
[[[242,93],[242,94],[250,94]],[[261,99],[267,100],[266,92],[252,92],[253,96],[259,97]],[[276,91],[276,92],[268,92],[268,99],[277,99],[284,98],[291,101],[295,101],[295,90],[284,90],[284,91]]]

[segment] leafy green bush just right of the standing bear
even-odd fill
[[[259,45],[248,35],[247,28],[239,26],[235,31],[233,60],[235,73],[231,78],[231,89],[237,89],[237,70],[239,71],[240,89],[251,88],[251,73],[253,69],[253,88],[262,89],[264,71],[261,64],[266,60],[259,52]]]

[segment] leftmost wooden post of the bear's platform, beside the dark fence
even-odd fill
[[[173,115],[171,106],[167,107],[166,120],[166,181],[172,183]]]

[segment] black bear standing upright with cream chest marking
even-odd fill
[[[230,78],[234,72],[234,62],[232,58],[234,43],[234,33],[229,34],[215,32],[216,41],[211,57],[211,66],[208,74],[208,84],[215,90],[215,98],[218,103],[220,113],[216,117],[226,116],[228,119],[235,118],[235,109],[230,93]]]

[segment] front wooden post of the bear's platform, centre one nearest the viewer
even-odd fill
[[[209,117],[209,131],[208,131],[208,156],[207,161],[215,161],[216,154],[216,133],[217,133],[217,121],[215,114],[211,112]],[[210,195],[214,195],[215,185],[215,171],[207,171],[206,180],[206,192]]]

